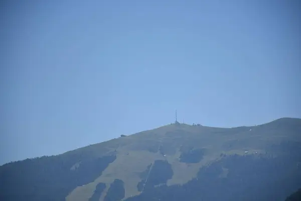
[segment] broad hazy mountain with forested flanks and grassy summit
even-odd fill
[[[0,167],[0,200],[279,200],[301,187],[301,119],[178,122]]]

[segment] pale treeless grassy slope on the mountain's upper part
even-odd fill
[[[88,200],[99,182],[106,183],[106,191],[116,178],[125,183],[125,198],[137,195],[139,192],[136,186],[141,180],[139,173],[160,159],[168,160],[174,171],[173,178],[167,184],[183,184],[195,177],[202,165],[219,159],[221,153],[244,154],[245,151],[260,153],[267,151],[265,147],[268,144],[282,140],[301,141],[301,136],[297,135],[300,133],[299,125],[300,119],[291,118],[282,118],[259,126],[237,128],[173,124],[67,152],[66,155],[84,151],[96,157],[116,150],[117,159],[93,182],[75,188],[66,200]],[[298,131],[290,133],[288,129],[291,128],[297,128]],[[204,159],[196,164],[180,162],[180,149],[189,147],[206,148]],[[166,157],[160,153],[160,148],[163,148]],[[100,200],[103,200],[104,196],[105,193],[102,193]]]

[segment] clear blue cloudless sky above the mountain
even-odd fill
[[[179,120],[301,117],[300,1],[2,1],[0,164]]]

